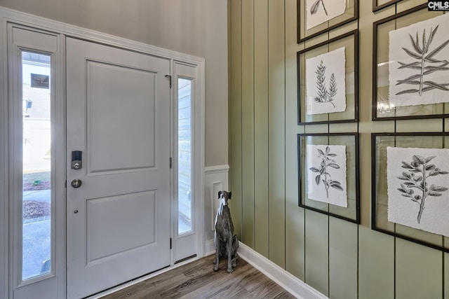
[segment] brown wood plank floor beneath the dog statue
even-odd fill
[[[200,258],[102,299],[295,298],[241,258],[232,273],[226,271],[227,260],[220,260],[214,272],[213,258]]]

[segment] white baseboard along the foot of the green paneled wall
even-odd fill
[[[273,263],[268,258],[257,253],[250,247],[239,242],[239,257],[246,260],[250,265],[253,265],[257,270],[267,275],[269,279],[279,284],[289,293],[300,299],[328,299],[316,289],[304,283],[292,274],[283,270],[281,267]]]

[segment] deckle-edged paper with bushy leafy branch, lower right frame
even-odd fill
[[[449,236],[449,150],[387,147],[388,220]]]

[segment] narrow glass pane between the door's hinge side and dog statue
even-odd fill
[[[192,80],[177,79],[178,232],[192,230]]]

